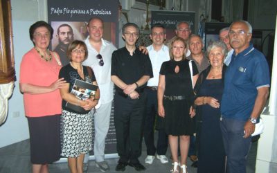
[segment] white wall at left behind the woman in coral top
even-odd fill
[[[24,114],[23,95],[19,91],[19,66],[24,53],[33,47],[28,34],[29,27],[43,16],[39,15],[39,1],[12,0],[11,3],[17,81],[9,100],[8,118],[0,126],[0,147],[29,138],[28,123]]]

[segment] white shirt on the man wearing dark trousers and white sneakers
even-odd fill
[[[161,64],[170,60],[168,46],[163,44],[159,51],[155,51],[153,45],[148,46],[147,49],[153,69],[153,78],[148,80],[148,86],[158,86]]]

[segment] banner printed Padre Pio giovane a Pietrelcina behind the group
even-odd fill
[[[59,26],[70,26],[67,41],[73,39],[84,40],[87,33],[87,22],[91,17],[100,17],[104,21],[103,39],[107,39],[115,46],[118,43],[118,1],[114,0],[48,0],[48,23],[54,29],[51,49],[55,50],[62,38],[57,35]],[[60,53],[59,53],[60,55]],[[61,55],[60,55],[61,57]],[[62,59],[62,57],[61,57]],[[114,128],[114,106],[111,110],[110,127],[106,138],[105,154],[116,154],[116,133]],[[94,122],[93,122],[94,124]],[[94,137],[94,131],[93,131]],[[94,138],[93,138],[94,140]],[[94,143],[94,142],[93,142]],[[93,151],[91,152],[93,155]]]

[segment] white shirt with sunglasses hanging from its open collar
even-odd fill
[[[89,43],[89,37],[84,40],[89,51],[87,60],[82,63],[84,66],[90,66],[96,76],[96,82],[100,89],[100,102],[105,104],[114,98],[114,83],[111,82],[111,54],[116,51],[116,47],[111,42],[102,39],[100,53],[96,51]],[[96,55],[102,55],[104,65],[100,66]]]

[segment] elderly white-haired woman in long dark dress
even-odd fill
[[[202,117],[202,125],[197,134],[198,173],[225,172],[225,153],[220,130],[220,102],[226,70],[223,62],[227,52],[223,42],[213,42],[208,46],[207,55],[211,65],[199,75],[195,85],[197,116]]]

